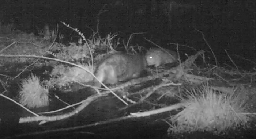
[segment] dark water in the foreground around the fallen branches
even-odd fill
[[[61,95],[59,97],[69,103],[76,103],[82,97],[81,92],[64,95],[72,99],[68,101]],[[78,96],[79,98],[76,98]],[[159,116],[120,119],[94,125],[97,122],[127,116],[130,112],[138,112],[140,109],[149,107],[148,105],[142,104],[133,108],[120,110],[125,105],[114,97],[98,98],[77,115],[66,120],[54,121],[42,126],[36,126],[35,123],[18,124],[19,117],[31,115],[24,112],[16,104],[4,101],[4,99],[1,102],[3,103],[1,103],[1,119],[3,120],[1,128],[4,129],[1,130],[2,137],[19,135],[16,137],[13,136],[12,138],[159,138],[165,135],[167,130],[167,125],[163,121],[157,120]],[[57,109],[57,107],[61,106],[61,104],[57,103],[52,103],[51,105],[50,110]]]

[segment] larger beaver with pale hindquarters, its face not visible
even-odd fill
[[[100,61],[94,75],[104,84],[117,84],[119,81],[139,77],[146,66],[145,55],[117,52]],[[93,86],[101,87],[99,81],[94,78]]]

